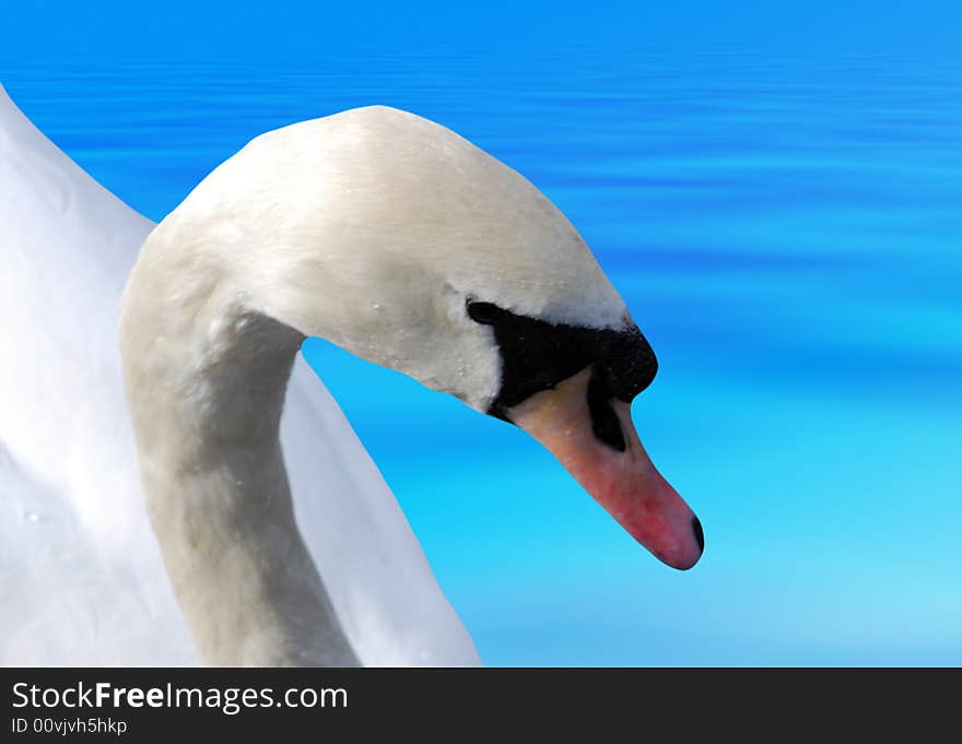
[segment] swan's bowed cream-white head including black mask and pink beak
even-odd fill
[[[518,425],[667,564],[701,556],[631,418],[650,346],[554,204],[453,131],[380,106],[274,130],[157,233],[227,251],[237,295],[301,333]]]

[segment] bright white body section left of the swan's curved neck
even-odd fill
[[[196,663],[142,504],[116,341],[152,227],[0,87],[0,663]]]

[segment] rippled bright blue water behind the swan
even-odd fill
[[[690,572],[520,432],[305,349],[489,664],[960,664],[962,14],[730,5],[64,4],[8,16],[0,81],[154,220],[371,103],[571,217],[658,354],[634,415],[705,525]]]

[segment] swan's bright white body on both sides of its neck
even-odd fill
[[[0,663],[197,662],[146,519],[117,349],[120,295],[152,227],[0,87]],[[300,355],[288,395],[297,520],[361,661],[477,663],[392,494]]]

